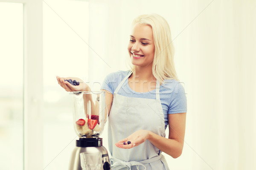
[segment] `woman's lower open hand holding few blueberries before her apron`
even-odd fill
[[[148,139],[148,135],[148,130],[138,130],[127,138],[118,141],[115,145],[119,148],[131,149],[132,147],[138,146],[145,142],[145,140]],[[128,144],[128,141],[130,141],[131,144]]]

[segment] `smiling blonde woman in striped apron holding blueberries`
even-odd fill
[[[169,170],[161,152],[173,158],[182,153],[186,95],[177,79],[166,20],[157,14],[135,18],[128,53],[131,71],[111,73],[102,84],[110,111],[111,168]],[[57,79],[66,91],[90,91],[84,83],[77,87],[64,82],[64,78]]]

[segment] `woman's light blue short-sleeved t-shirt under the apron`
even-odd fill
[[[113,94],[117,86],[129,72],[130,71],[117,71],[108,74],[102,83],[101,89],[110,91]],[[127,97],[156,99],[155,92],[155,89],[145,93],[136,92],[130,88],[128,79],[126,79],[117,94]],[[186,94],[183,85],[174,79],[166,79],[165,83],[160,85],[159,93],[166,128],[168,125],[168,114],[187,112]]]

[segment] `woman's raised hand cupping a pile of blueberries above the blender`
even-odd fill
[[[58,84],[61,85],[62,88],[64,88],[66,91],[72,92],[72,91],[90,91],[90,87],[83,82],[83,80],[77,78],[77,77],[58,77],[56,76]],[[79,85],[71,85],[68,81],[65,81],[65,79],[72,79],[79,82]]]

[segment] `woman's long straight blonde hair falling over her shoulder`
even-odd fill
[[[149,25],[154,37],[154,60],[152,65],[153,76],[163,83],[164,79],[175,79],[179,81],[174,65],[174,46],[170,27],[167,21],[158,14],[145,14],[136,17],[132,27],[137,24]],[[132,68],[134,70],[134,68]]]

